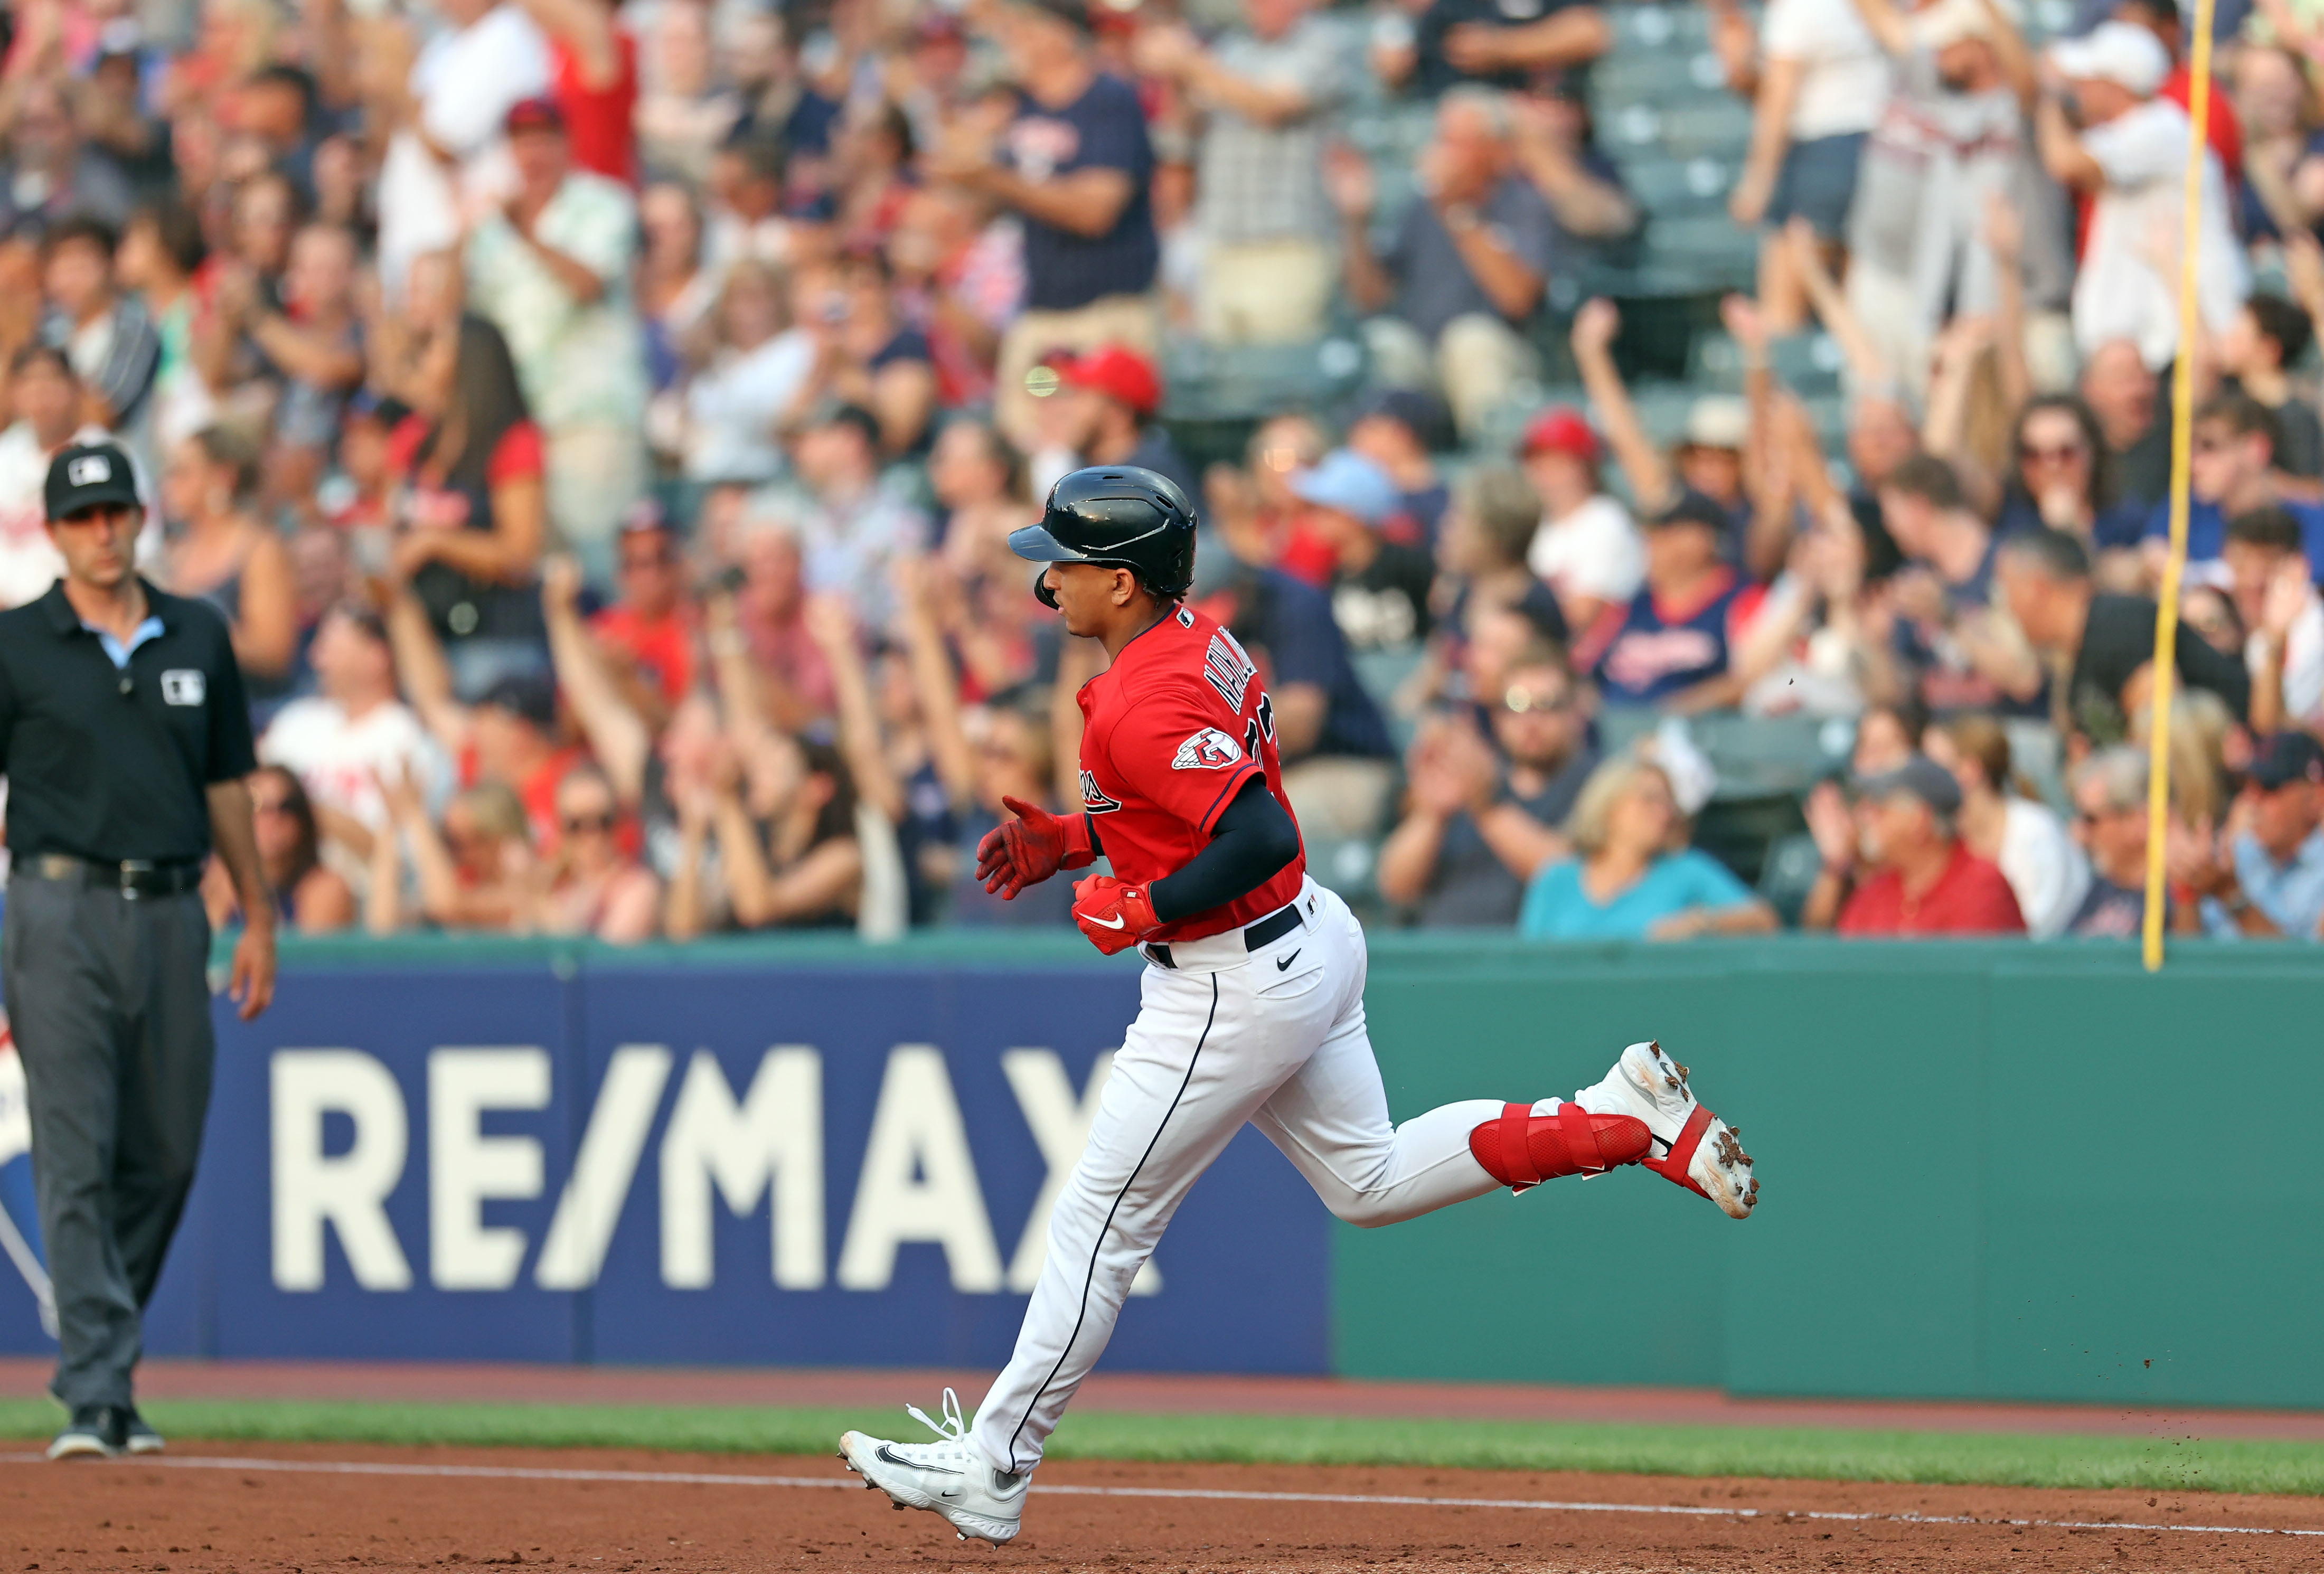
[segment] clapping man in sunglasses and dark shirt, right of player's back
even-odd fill
[[[1597,770],[1573,674],[1529,646],[1490,707],[1422,725],[1406,758],[1404,821],[1380,846],[1380,895],[1420,928],[1508,928],[1525,883],[1569,849],[1559,825]],[[1497,758],[1499,756],[1499,758]]]

